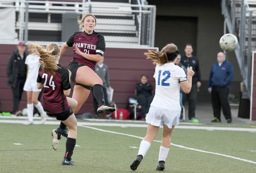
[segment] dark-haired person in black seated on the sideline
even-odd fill
[[[150,104],[153,100],[153,86],[148,83],[148,75],[140,76],[140,83],[136,84],[137,102],[141,105],[141,110],[145,116],[148,114]]]

